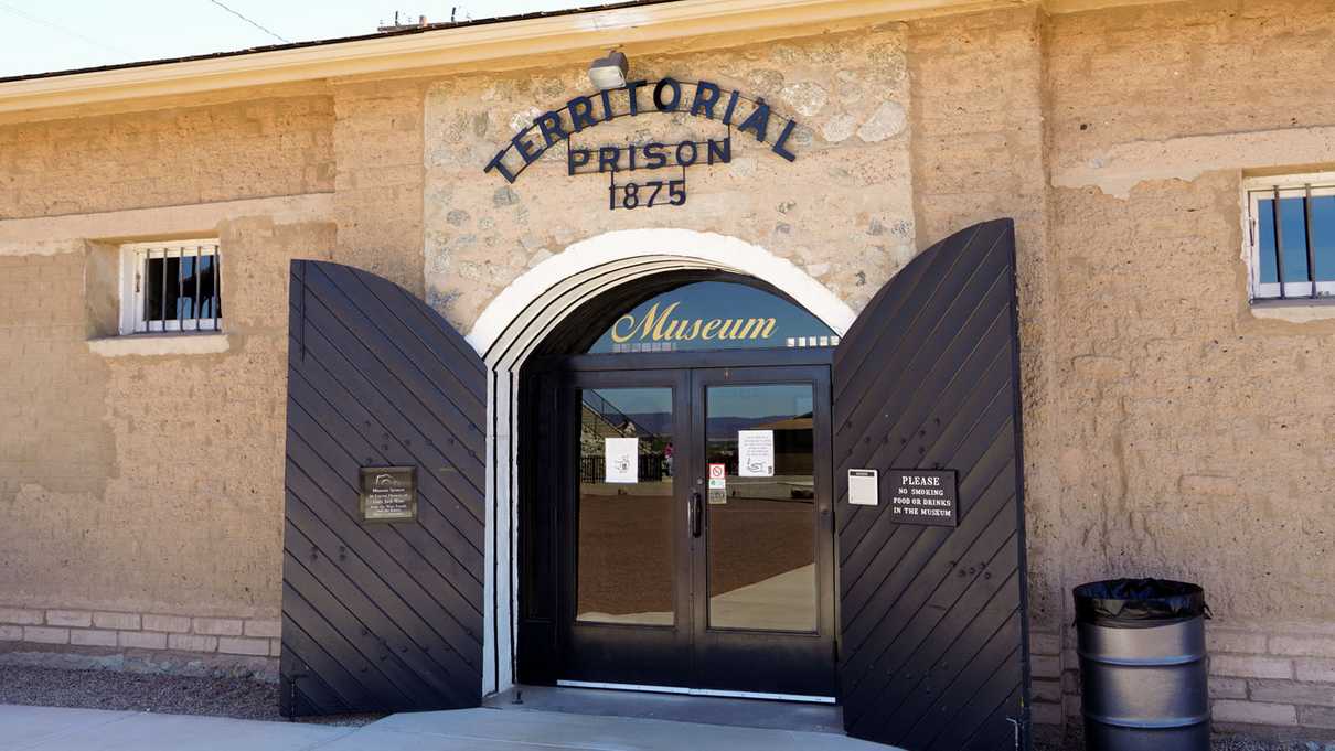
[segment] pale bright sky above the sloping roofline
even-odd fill
[[[375,33],[395,11],[435,23],[607,1],[0,0],[0,77]]]

